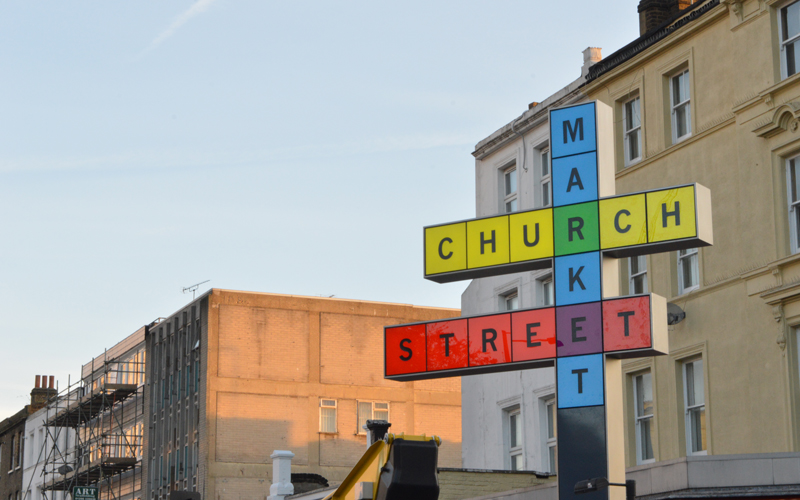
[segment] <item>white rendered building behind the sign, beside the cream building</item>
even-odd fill
[[[585,75],[600,49],[584,51]],[[551,205],[548,111],[585,100],[581,77],[479,142],[476,217]],[[552,270],[473,280],[461,295],[463,316],[553,304]],[[465,468],[555,472],[553,368],[461,379]]]

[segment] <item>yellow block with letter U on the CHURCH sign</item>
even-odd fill
[[[509,215],[511,262],[553,256],[553,209]]]

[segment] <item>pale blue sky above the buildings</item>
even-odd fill
[[[208,286],[459,307],[422,227],[637,0],[0,4],[0,418]]]

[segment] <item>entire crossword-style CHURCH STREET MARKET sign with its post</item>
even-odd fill
[[[552,267],[555,307],[384,330],[385,376],[394,380],[555,364],[560,500],[578,481],[625,482],[620,359],[669,352],[663,297],[609,296],[615,258],[713,243],[711,194],[699,184],[614,195],[613,131],[611,108],[600,102],[551,110],[552,207],[424,231],[426,279]]]

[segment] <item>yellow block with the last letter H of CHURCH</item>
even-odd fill
[[[647,193],[647,236],[650,243],[697,236],[694,186]]]

